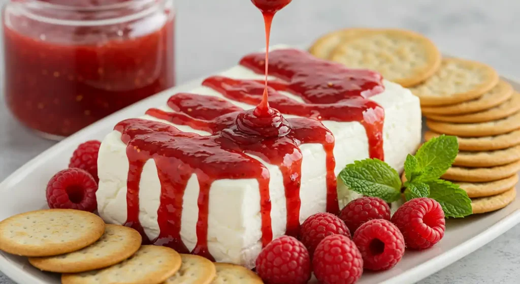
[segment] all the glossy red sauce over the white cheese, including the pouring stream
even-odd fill
[[[283,2],[287,5],[290,2],[252,1],[257,6],[267,5],[264,16],[265,11],[274,15],[278,7],[274,4]],[[279,7],[285,5],[280,4]],[[265,19],[268,34],[270,20],[268,17]],[[191,253],[213,260],[207,248],[207,228],[210,188],[218,179],[254,178],[258,181],[261,241],[263,246],[269,243],[273,237],[270,173],[262,162],[248,154],[280,169],[287,206],[285,233],[296,236],[300,228],[301,207],[303,157],[300,145],[307,143],[321,144],[326,152],[327,211],[339,213],[334,173],[335,141],[321,120],[360,122],[369,138],[370,157],[384,158],[384,110],[368,100],[384,89],[382,77],[378,73],[350,70],[294,49],[251,54],[245,56],[240,64],[257,73],[270,72],[269,75],[275,76],[277,80],[267,82],[267,76],[265,82],[213,76],[206,79],[203,85],[231,100],[257,105],[256,108],[243,110],[219,97],[180,93],[167,102],[173,111],[149,109],[146,112],[176,125],[209,132],[210,136],[185,133],[169,124],[142,119],[125,120],[115,126],[127,145],[130,164],[126,225],[141,234],[144,233],[138,216],[140,175],[147,160],[153,159],[157,165],[161,182],[158,210],[160,235],[157,239],[147,241],[170,246],[181,253],[188,252],[180,237],[181,214],[188,180],[196,175],[200,187],[199,215],[197,244]],[[298,96],[304,102],[284,96],[280,93],[282,91]],[[285,119],[281,113],[298,115],[300,118]]]

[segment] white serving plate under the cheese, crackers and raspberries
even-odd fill
[[[520,92],[520,82],[502,78]],[[59,170],[65,169],[77,145],[89,139],[101,140],[121,120],[138,117],[148,108],[163,105],[173,94],[189,92],[202,79],[168,89],[137,102],[109,117],[84,128],[32,159],[0,184],[0,220],[9,216],[47,208],[45,187]],[[520,199],[506,208],[464,219],[450,219],[444,238],[435,247],[425,251],[407,250],[402,260],[385,272],[365,272],[358,283],[414,283],[431,275],[463,256],[484,246],[520,223]],[[44,273],[32,267],[26,257],[0,251],[0,270],[20,284],[58,284],[59,276]],[[315,280],[311,281],[315,282]]]

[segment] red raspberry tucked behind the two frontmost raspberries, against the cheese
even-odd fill
[[[300,240],[310,255],[313,255],[318,243],[323,238],[335,234],[351,238],[350,231],[345,223],[339,217],[330,213],[316,213],[308,217],[300,228]]]

